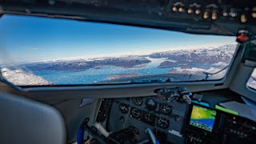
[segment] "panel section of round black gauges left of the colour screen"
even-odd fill
[[[141,142],[147,138],[145,129],[150,128],[161,143],[182,143],[186,109],[186,104],[167,102],[158,96],[116,98],[110,110],[109,130],[133,126]]]

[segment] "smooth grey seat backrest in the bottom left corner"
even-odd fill
[[[51,106],[0,92],[0,143],[66,143],[63,118]]]

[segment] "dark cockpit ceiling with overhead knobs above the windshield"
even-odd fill
[[[250,0],[3,0],[2,14],[110,22],[194,34],[236,35],[256,31],[256,2]]]

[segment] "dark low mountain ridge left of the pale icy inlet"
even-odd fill
[[[90,68],[100,69],[101,66],[121,66],[124,68],[149,63],[150,60],[141,56],[126,56],[118,58],[96,58],[78,60],[59,60],[49,62],[33,62],[19,67],[26,67],[28,70],[87,70]]]

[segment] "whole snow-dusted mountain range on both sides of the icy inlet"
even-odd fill
[[[100,68],[101,66],[120,66],[130,68],[141,64],[150,63],[148,58],[167,58],[158,67],[164,68],[173,65],[202,63],[212,65],[214,63],[229,63],[234,54],[236,45],[224,45],[211,49],[198,50],[172,50],[158,52],[149,55],[130,55],[112,58],[91,58],[91,59],[72,59],[64,58],[62,60],[33,62],[23,64],[20,67],[38,71],[38,70],[86,70],[90,68]]]

